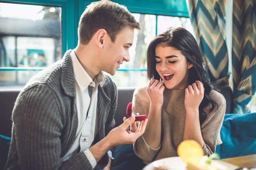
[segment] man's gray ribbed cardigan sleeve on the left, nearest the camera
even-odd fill
[[[83,152],[62,161],[63,112],[60,101],[47,86],[35,86],[19,95],[13,110],[13,128],[20,169],[92,169]]]

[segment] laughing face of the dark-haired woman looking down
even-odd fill
[[[158,45],[155,48],[155,68],[168,89],[186,89],[189,86],[189,68],[193,65],[173,47]]]

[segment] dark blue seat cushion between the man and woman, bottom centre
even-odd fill
[[[113,158],[110,170],[141,170],[145,166],[142,159],[135,155],[132,144],[117,146]]]

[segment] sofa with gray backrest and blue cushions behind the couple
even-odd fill
[[[217,146],[216,152],[221,158],[255,154],[256,113],[249,113],[246,115],[229,114],[232,113],[233,108],[232,90],[227,85],[218,86],[218,88],[226,99],[227,107],[221,129],[223,144]],[[116,126],[119,126],[123,122],[123,117],[126,116],[126,107],[128,103],[132,101],[132,94],[134,90],[135,88],[133,87],[118,89],[118,104],[115,114]],[[0,90],[0,135],[6,136],[5,139],[9,139],[8,137],[11,137],[11,112],[19,92],[20,89]],[[0,144],[3,142],[6,144],[5,139],[4,141],[0,141]],[[133,161],[136,161],[137,163],[142,162],[135,156],[132,150],[132,145],[119,146],[115,148],[113,157],[115,158],[113,161],[113,170],[118,170],[121,166],[124,167],[125,163],[129,165],[129,163]],[[127,168],[133,169],[132,164]]]

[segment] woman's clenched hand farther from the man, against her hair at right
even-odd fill
[[[195,81],[185,89],[185,109],[186,112],[198,111],[199,105],[204,98],[204,86],[202,82]]]

